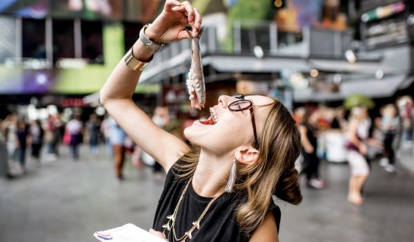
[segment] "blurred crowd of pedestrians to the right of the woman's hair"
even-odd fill
[[[320,160],[348,162],[351,168],[348,201],[364,203],[362,188],[371,172],[371,160],[380,160],[388,172],[404,150],[412,156],[414,109],[409,96],[380,107],[379,115],[369,114],[364,104],[350,110],[343,106],[301,106],[294,117],[302,135],[302,157],[297,160],[308,187],[322,189]]]

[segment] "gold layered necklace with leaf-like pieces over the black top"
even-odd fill
[[[192,238],[191,234],[194,232],[194,230],[200,230],[201,219],[204,218],[204,216],[206,215],[208,209],[210,209],[211,205],[217,200],[217,198],[219,198],[221,196],[221,194],[224,194],[224,191],[217,194],[217,196],[215,196],[210,201],[210,203],[208,203],[207,207],[201,213],[201,215],[199,216],[197,221],[193,222],[193,227],[191,227],[190,230],[185,232],[183,236],[177,238],[177,235],[175,234],[175,221],[176,221],[176,218],[177,218],[177,212],[179,210],[179,205],[181,204],[181,201],[184,198],[184,194],[186,194],[188,185],[190,185],[190,183],[191,183],[191,180],[193,180],[193,178],[190,178],[190,180],[188,180],[188,183],[187,183],[186,187],[184,187],[184,190],[181,193],[181,196],[179,197],[179,201],[177,203],[177,206],[175,207],[174,213],[171,214],[171,215],[168,215],[167,216],[167,219],[168,219],[167,223],[162,225],[162,227],[164,227],[164,231],[163,231],[164,236],[166,236],[166,231],[168,231],[168,236],[166,236],[167,239],[170,236],[170,232],[172,232],[172,242],[174,242],[174,241],[185,242],[187,239],[191,239]]]

